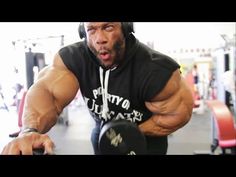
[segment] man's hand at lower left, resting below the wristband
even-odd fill
[[[36,132],[23,133],[9,142],[2,150],[2,155],[33,155],[34,149],[44,149],[44,154],[54,154],[54,143],[46,134]]]

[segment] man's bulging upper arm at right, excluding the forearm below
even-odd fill
[[[164,89],[152,101],[145,104],[154,116],[156,115],[159,125],[173,128],[188,122],[192,114],[193,98],[189,87],[177,70]]]

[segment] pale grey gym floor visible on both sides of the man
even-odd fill
[[[83,103],[68,107],[68,125],[60,119],[48,132],[54,141],[55,154],[58,155],[91,155],[93,154],[90,134],[94,127],[94,121],[90,117]],[[0,109],[0,151],[12,138],[9,134],[17,127],[17,115],[15,110]],[[198,110],[194,110],[190,122],[169,136],[168,155],[193,155],[196,153],[210,153],[212,142],[211,112],[202,104]],[[220,153],[220,149],[216,153]]]

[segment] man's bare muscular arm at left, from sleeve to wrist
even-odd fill
[[[78,89],[76,77],[63,66],[61,58],[56,56],[53,65],[39,73],[37,81],[27,92],[23,127],[36,128],[41,133],[49,131]]]

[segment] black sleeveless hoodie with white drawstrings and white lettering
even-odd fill
[[[152,116],[145,107],[165,86],[179,65],[170,57],[126,39],[125,58],[116,68],[104,69],[86,41],[59,50],[66,67],[77,77],[85,103],[97,122],[126,119],[140,124]],[[149,154],[165,154],[167,137],[146,136]]]

